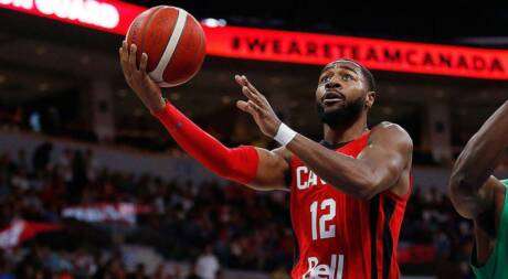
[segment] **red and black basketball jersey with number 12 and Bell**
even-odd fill
[[[357,158],[369,135],[336,152]],[[297,243],[292,278],[399,278],[396,246],[410,193],[398,196],[385,191],[362,201],[318,178],[295,155],[290,171],[290,214]]]

